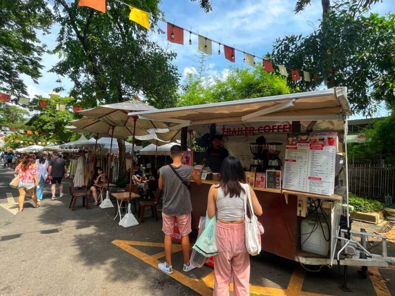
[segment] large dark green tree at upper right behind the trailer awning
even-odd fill
[[[395,104],[395,16],[365,16],[377,0],[322,0],[323,18],[318,29],[306,37],[291,35],[276,39],[272,59],[276,64],[317,74],[312,82],[294,81],[288,85],[301,91],[315,90],[321,83],[328,88],[347,86],[352,111],[372,115],[383,100]],[[299,0],[301,12],[309,0]]]

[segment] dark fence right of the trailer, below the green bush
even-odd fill
[[[395,193],[395,169],[380,164],[349,165],[349,191],[356,195],[384,201]]]

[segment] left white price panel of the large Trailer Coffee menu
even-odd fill
[[[282,187],[306,192],[308,166],[309,144],[286,146]]]

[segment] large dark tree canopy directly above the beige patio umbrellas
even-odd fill
[[[58,62],[51,72],[68,76],[70,93],[84,106],[144,97],[155,107],[173,107],[179,83],[176,57],[149,39],[149,32],[129,21],[128,6],[112,1],[113,9],[101,13],[78,6],[78,1],[54,0],[55,20],[61,29],[55,54]],[[151,23],[161,16],[158,0],[134,1],[148,11]],[[60,89],[56,89],[60,90]]]

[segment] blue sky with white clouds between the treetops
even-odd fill
[[[276,38],[282,38],[291,34],[310,34],[314,27],[318,27],[318,19],[321,17],[321,1],[313,0],[301,14],[295,15],[293,12],[296,0],[212,0],[213,10],[205,13],[199,7],[198,1],[190,0],[162,0],[160,5],[164,12],[165,19],[183,28],[191,29],[202,36],[213,40],[220,40],[229,46],[244,50],[247,53],[263,56],[267,52],[272,52],[272,46]],[[383,0],[371,9],[371,12],[378,12],[384,15],[391,11],[393,0]],[[50,5],[50,4],[49,4]],[[129,21],[125,15],[125,22]],[[166,24],[158,23],[166,32]],[[158,28],[156,28],[156,32]],[[42,43],[53,49],[56,45],[56,36],[59,26],[55,25],[51,34],[41,36]],[[150,38],[167,50],[177,53],[177,58],[172,63],[178,67],[179,72],[185,76],[193,72],[197,63],[197,36],[192,35],[192,45],[189,45],[189,33],[184,32],[184,45],[168,42],[166,35],[158,35],[149,31]],[[229,67],[232,65],[243,65],[243,54],[236,52],[235,63],[225,59],[224,50],[221,46],[221,55],[218,55],[218,44],[213,43],[211,56],[208,56],[206,74],[226,77]],[[28,86],[31,98],[34,95],[48,97],[49,92],[58,87],[56,79],[62,79],[62,86],[66,89],[61,95],[67,96],[72,82],[67,77],[58,77],[56,74],[47,71],[59,60],[57,55],[46,54],[43,56],[42,77],[39,84],[35,84],[32,79],[23,76]],[[256,60],[258,61],[258,60]],[[244,64],[245,65],[245,64]],[[377,116],[385,116],[387,111],[382,108]],[[356,115],[353,118],[361,118]],[[353,119],[351,118],[351,119]]]

